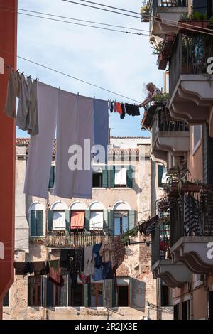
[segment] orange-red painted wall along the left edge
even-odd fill
[[[18,0],[0,0],[0,57],[16,69]],[[0,241],[4,243],[4,259],[0,259],[0,304],[13,283],[14,257],[14,185],[15,185],[15,124],[4,114],[9,70],[0,75]],[[1,318],[1,312],[0,312]]]

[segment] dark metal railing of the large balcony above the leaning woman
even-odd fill
[[[170,55],[170,97],[182,74],[207,74],[213,38],[200,33],[179,33]]]

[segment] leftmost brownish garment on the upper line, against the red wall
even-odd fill
[[[16,117],[16,97],[19,97],[20,87],[21,75],[17,71],[10,70],[5,104],[5,113],[8,117]]]

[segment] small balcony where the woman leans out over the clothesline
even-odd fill
[[[159,106],[153,117],[152,125],[152,153],[158,160],[159,155],[164,164],[170,166],[168,155],[182,157],[190,151],[190,132],[183,121],[170,116],[165,104]]]

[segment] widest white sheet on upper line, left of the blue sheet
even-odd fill
[[[84,141],[87,140],[89,145],[94,143],[93,99],[59,90],[58,106],[53,195],[92,198],[92,154]],[[76,151],[79,154],[75,155]]]

